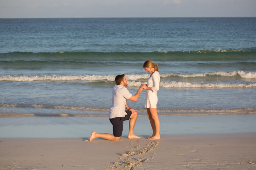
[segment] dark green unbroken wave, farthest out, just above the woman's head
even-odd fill
[[[58,51],[54,53],[12,52],[0,53],[0,61],[255,61],[255,49],[221,49],[196,51],[153,52],[91,52]]]

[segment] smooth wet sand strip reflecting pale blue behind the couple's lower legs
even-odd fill
[[[161,135],[254,133],[255,114],[159,116]],[[124,122],[123,136],[129,121]],[[0,119],[0,138],[80,138],[92,131],[112,133],[108,117],[6,117]],[[138,116],[134,134],[150,135],[148,118]]]

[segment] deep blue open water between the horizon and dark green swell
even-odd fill
[[[1,53],[255,48],[255,18],[1,19]]]

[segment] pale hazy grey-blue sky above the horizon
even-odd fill
[[[256,17],[256,0],[0,0],[0,18]]]

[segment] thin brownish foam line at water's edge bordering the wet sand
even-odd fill
[[[1,106],[1,104],[0,104]],[[60,106],[61,107],[61,106]],[[0,118],[5,117],[108,117],[108,109],[94,108],[76,108],[76,109],[61,109],[63,113],[32,113],[32,112],[11,112],[10,109],[15,106],[4,106],[1,107],[6,109],[6,112],[0,113]],[[31,107],[34,108],[34,107]],[[8,110],[8,112],[7,112]],[[144,109],[135,109],[138,112],[138,116],[147,116],[147,112]],[[75,111],[71,112],[70,111]],[[84,113],[78,113],[84,111]],[[158,109],[158,116],[190,116],[190,115],[239,115],[239,114],[256,114],[256,108],[242,108],[242,109]]]

